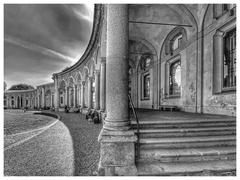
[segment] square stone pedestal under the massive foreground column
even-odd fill
[[[109,131],[102,129],[98,141],[100,147],[99,176],[134,176],[135,145],[137,137],[132,130]]]

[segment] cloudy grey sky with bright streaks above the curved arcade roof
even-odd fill
[[[52,82],[87,47],[93,5],[5,4],[4,80],[8,88]]]

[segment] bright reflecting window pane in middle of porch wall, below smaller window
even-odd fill
[[[170,65],[169,95],[180,95],[181,93],[181,64],[180,61]]]

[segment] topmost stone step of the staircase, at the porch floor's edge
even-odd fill
[[[131,122],[133,129],[137,128],[137,124],[135,121]],[[140,129],[159,129],[159,128],[200,128],[200,127],[230,127],[236,126],[236,121],[234,120],[209,120],[209,121],[140,121],[139,128]]]

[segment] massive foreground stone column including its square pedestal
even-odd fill
[[[128,5],[107,5],[106,112],[99,175],[136,175],[136,136],[128,112]]]

